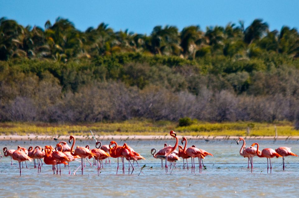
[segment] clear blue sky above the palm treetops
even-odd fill
[[[206,26],[238,23],[247,27],[254,19],[268,22],[270,30],[283,25],[298,28],[299,0],[127,0],[127,1],[16,1],[0,0],[0,17],[14,19],[21,25],[44,28],[60,16],[67,18],[81,31],[97,27],[101,22],[114,31],[126,30],[150,34],[156,25],[175,25],[179,30],[189,25]]]

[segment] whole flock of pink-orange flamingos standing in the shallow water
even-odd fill
[[[175,145],[172,147],[170,145],[164,144],[164,148],[157,150],[153,148],[151,150],[151,154],[155,159],[161,159],[161,167],[163,169],[163,160],[165,160],[165,171],[168,173],[168,163],[169,162],[169,168],[171,169],[171,164],[173,164],[173,168],[176,168],[176,161],[180,160],[179,158],[183,158],[183,169],[185,169],[185,162],[184,160],[186,159],[187,163],[187,168],[188,167],[188,158],[191,158],[191,172],[195,173],[195,158],[198,158],[198,164],[199,164],[199,172],[202,172],[202,167],[204,167],[203,164],[203,159],[207,155],[213,155],[211,153],[206,152],[205,150],[198,149],[196,148],[195,145],[192,145],[191,147],[187,148],[187,138],[183,137],[183,140],[181,141],[182,145],[185,142],[184,148],[181,145],[178,145],[178,137],[176,136],[176,133],[174,131],[170,131],[170,136],[174,137],[176,139]],[[58,174],[58,164],[59,164],[59,174],[61,175],[61,168],[60,164],[64,164],[64,166],[68,165],[72,161],[78,161],[77,159],[81,159],[81,164],[80,166],[74,171],[73,174],[76,173],[76,171],[81,167],[82,175],[83,175],[83,170],[84,167],[86,167],[85,160],[89,162],[88,159],[93,158],[93,165],[97,165],[97,173],[98,175],[101,173],[101,166],[103,168],[103,160],[106,159],[106,165],[107,165],[107,158],[110,163],[109,157],[112,158],[117,158],[117,170],[116,174],[119,169],[119,157],[121,158],[122,162],[122,173],[125,174],[125,158],[129,163],[129,170],[128,174],[130,174],[130,166],[132,167],[131,174],[134,171],[134,162],[136,161],[137,165],[138,160],[145,159],[142,157],[139,153],[135,152],[130,146],[128,146],[126,143],[124,143],[123,146],[118,146],[115,141],[111,141],[109,145],[102,145],[101,142],[96,142],[96,145],[94,149],[89,150],[89,145],[86,147],[80,147],[77,146],[76,149],[74,149],[75,145],[75,138],[73,136],[69,137],[69,143],[71,144],[71,141],[73,140],[73,144],[71,147],[64,142],[61,141],[59,142],[56,147],[54,148],[51,145],[46,145],[45,147],[40,147],[36,146],[34,149],[32,146],[29,147],[27,150],[24,147],[18,146],[17,150],[8,150],[6,147],[3,148],[4,156],[11,157],[11,165],[12,165],[12,159],[17,160],[19,162],[19,168],[20,168],[20,176],[21,176],[21,163],[22,163],[22,168],[23,167],[23,162],[26,164],[26,160],[34,162],[34,168],[38,169],[38,173],[41,172],[41,166],[43,165],[42,159],[44,159],[44,163],[48,165],[52,165],[52,170],[53,174]],[[248,158],[248,167],[249,168],[249,162],[251,165],[251,173],[253,171],[253,157],[258,156],[258,157],[264,157],[267,158],[267,164],[268,160],[270,160],[270,173],[272,172],[272,165],[271,165],[271,158],[278,158],[282,157],[282,162],[283,162],[283,170],[285,169],[284,165],[284,157],[292,155],[292,156],[298,156],[290,150],[291,148],[288,147],[279,147],[276,150],[273,150],[271,148],[265,148],[262,151],[259,150],[259,144],[258,143],[253,143],[250,148],[246,148],[246,143],[244,138],[240,137],[239,140],[237,141],[237,144],[239,144],[240,141],[243,141],[243,145],[240,149],[240,155],[243,156],[244,158]],[[112,145],[114,145],[112,147]],[[254,146],[257,145],[257,148]],[[178,147],[178,151],[176,148]],[[2,155],[0,155],[0,161],[2,159]],[[35,161],[37,160],[37,162]],[[131,162],[133,160],[133,163]],[[92,163],[90,163],[90,166],[92,166]],[[27,164],[26,164],[27,168]],[[267,168],[267,173],[269,169],[269,164]],[[69,168],[69,174],[70,168]]]

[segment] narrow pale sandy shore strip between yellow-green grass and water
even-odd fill
[[[91,135],[89,136],[74,136],[76,140],[93,140]],[[177,136],[179,139],[182,139],[183,136]],[[189,140],[237,140],[239,136],[185,136]],[[170,140],[173,139],[171,136],[121,136],[121,135],[107,135],[107,136],[95,136],[97,140]],[[274,140],[274,136],[246,136],[244,137],[247,140]],[[18,136],[18,135],[8,135],[0,136],[0,140],[69,140],[69,136],[36,136],[36,135],[27,135],[27,136]],[[277,140],[299,140],[299,136],[289,137],[289,136],[278,136]]]

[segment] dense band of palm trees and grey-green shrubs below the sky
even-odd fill
[[[269,31],[261,19],[140,35],[1,18],[0,120],[295,121],[298,56],[297,30]]]

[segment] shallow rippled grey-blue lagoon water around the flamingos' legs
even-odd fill
[[[28,148],[30,145],[54,145],[56,141],[0,141],[2,148],[16,149],[17,145]],[[122,145],[124,141],[117,141]],[[280,146],[292,147],[294,153],[299,153],[297,140],[247,140],[247,147],[258,142],[263,148],[276,149]],[[109,144],[109,141],[102,141]],[[1,197],[298,197],[299,157],[285,158],[286,170],[282,171],[282,159],[273,158],[272,174],[267,174],[267,159],[254,157],[254,170],[247,169],[247,158],[239,154],[241,145],[235,140],[190,140],[187,147],[196,145],[214,155],[204,159],[206,170],[199,173],[198,160],[195,174],[191,170],[183,170],[183,160],[177,162],[177,169],[161,168],[160,159],[154,159],[150,154],[152,148],[161,149],[165,140],[134,140],[126,141],[136,152],[146,160],[140,160],[140,166],[146,167],[140,173],[135,166],[132,175],[128,175],[128,163],[125,163],[126,175],[116,175],[117,159],[112,159],[97,175],[97,168],[90,167],[86,162],[84,175],[79,169],[77,175],[68,175],[68,168],[62,166],[62,175],[53,175],[50,165],[42,166],[42,173],[37,173],[33,162],[27,162],[28,168],[22,169],[19,176],[17,161],[10,165],[10,157],[2,158],[0,162],[0,196]],[[175,140],[166,143],[174,145]],[[179,142],[180,143],[180,142]],[[90,145],[94,141],[77,141],[76,145]],[[92,162],[92,161],[91,161]],[[93,163],[93,162],[92,162]],[[191,160],[188,160],[191,163]],[[71,162],[71,171],[80,165]],[[25,163],[24,163],[25,166]],[[151,168],[152,167],[152,168]],[[171,174],[170,174],[171,172]],[[121,167],[118,173],[122,173]],[[138,176],[138,173],[140,175]],[[270,173],[270,169],[269,169]]]

